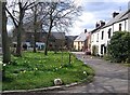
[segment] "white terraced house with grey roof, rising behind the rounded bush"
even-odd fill
[[[129,31],[128,14],[130,11],[114,13],[113,18],[104,26],[99,26],[91,35],[91,45],[98,45],[98,54],[104,55],[107,52],[107,44],[116,31]],[[98,40],[98,42],[95,42]],[[92,48],[92,46],[91,46]]]

